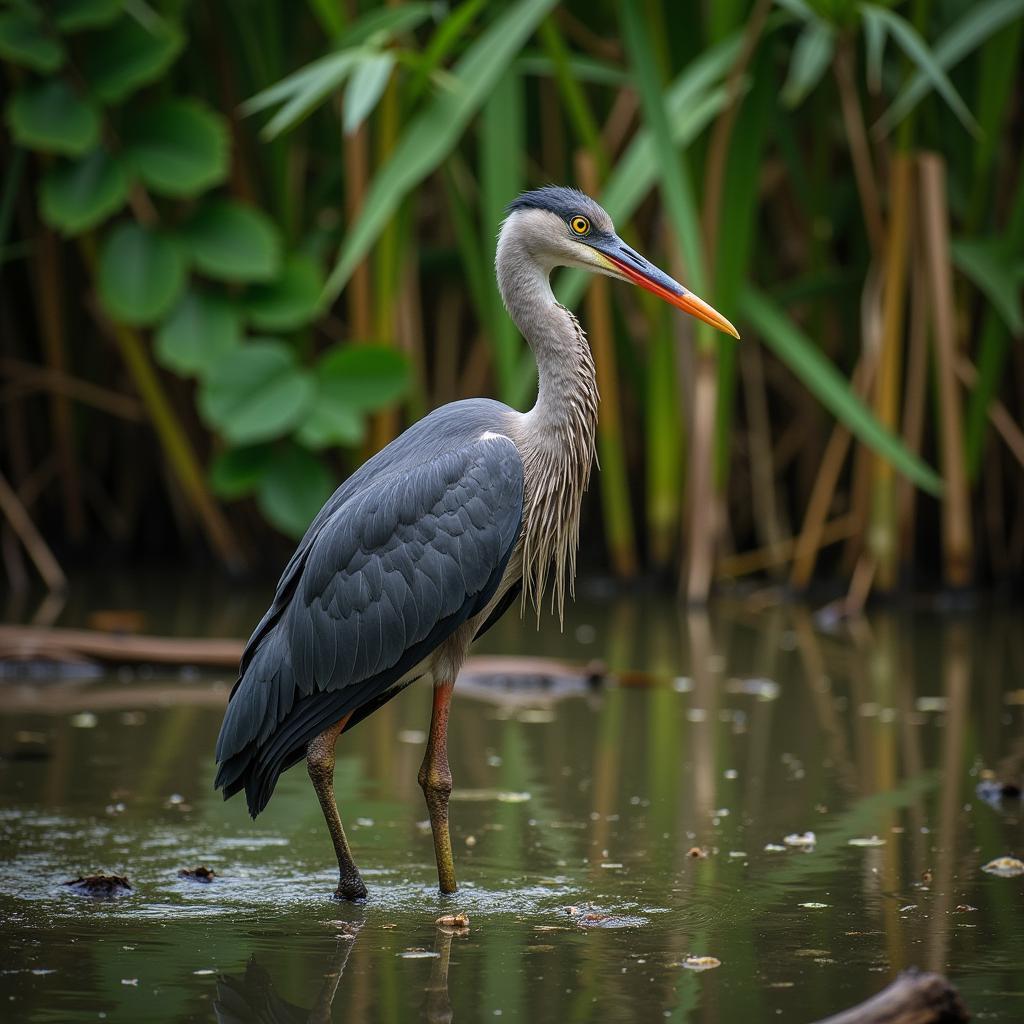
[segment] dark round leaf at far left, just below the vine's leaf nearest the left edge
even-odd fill
[[[43,219],[65,234],[81,234],[117,213],[128,197],[124,165],[105,150],[54,164],[39,186]]]

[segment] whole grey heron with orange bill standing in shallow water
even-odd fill
[[[488,398],[434,410],[365,462],[299,542],[245,647],[217,739],[224,799],[256,817],[303,759],[338,860],[335,897],[367,888],[334,793],[338,737],[410,684],[432,688],[419,783],[437,880],[456,891],[447,724],[473,641],[516,601],[538,618],[548,586],[571,594],[580,510],[595,459],[597,376],[586,335],[551,271],[626,281],[738,338],[711,305],[628,246],[590,197],[547,185],[507,208],[495,269],[537,362],[527,413]]]

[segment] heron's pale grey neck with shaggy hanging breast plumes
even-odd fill
[[[551,291],[551,266],[507,233],[498,244],[498,285],[534,350],[540,384],[514,438],[525,471],[522,600],[523,607],[531,600],[540,616],[551,570],[552,608],[561,622],[565,592],[573,593],[580,507],[595,456],[597,377],[583,328]]]

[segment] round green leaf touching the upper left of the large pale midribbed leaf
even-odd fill
[[[203,376],[242,343],[242,315],[222,295],[189,289],[161,325],[157,358],[182,377]]]

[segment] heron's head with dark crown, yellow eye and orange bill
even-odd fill
[[[628,281],[717,330],[739,337],[717,309],[623,242],[608,214],[579,189],[546,185],[523,193],[509,204],[508,214],[502,239],[514,234],[546,270],[572,266]]]

